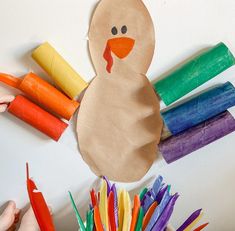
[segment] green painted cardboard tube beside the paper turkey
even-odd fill
[[[234,64],[228,47],[219,43],[155,83],[154,88],[163,102],[170,105]]]

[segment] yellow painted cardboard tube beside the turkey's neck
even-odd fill
[[[39,46],[33,52],[32,57],[71,99],[87,87],[82,77],[49,43]]]

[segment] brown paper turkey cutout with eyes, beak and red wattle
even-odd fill
[[[82,157],[98,176],[132,182],[157,157],[159,100],[145,76],[154,27],[141,0],[102,0],[89,30],[97,73],[82,99],[77,133]]]

